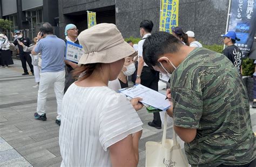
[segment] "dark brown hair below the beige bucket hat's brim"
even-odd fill
[[[91,64],[82,64],[73,70],[73,76],[78,78],[78,81],[82,81],[92,75],[92,72],[101,67],[102,63],[91,63]]]

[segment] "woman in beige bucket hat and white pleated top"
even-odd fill
[[[61,166],[137,166],[142,121],[138,100],[107,87],[136,51],[113,24],[98,24],[78,35],[83,46],[79,76],[66,91],[59,131]]]

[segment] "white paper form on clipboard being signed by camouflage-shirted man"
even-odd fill
[[[131,88],[122,89],[120,90],[120,92],[124,93],[124,95],[129,96],[131,98],[143,98],[143,100],[140,101],[143,104],[159,108],[163,111],[167,110],[171,106],[170,101],[165,100],[165,95],[140,84],[135,85]]]

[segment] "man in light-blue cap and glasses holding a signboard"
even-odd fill
[[[70,42],[79,44],[79,41],[77,39],[78,29],[77,29],[76,25],[73,25],[73,24],[66,25],[65,35],[66,35],[66,38],[64,39],[65,42],[70,41]],[[68,90],[69,86],[73,82],[75,82],[75,78],[73,78],[73,76],[72,76],[72,70],[77,68],[77,63],[75,63],[75,62],[65,60],[65,64],[66,64],[66,79],[65,79],[64,93],[66,92],[66,90]]]

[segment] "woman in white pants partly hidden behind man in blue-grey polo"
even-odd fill
[[[37,38],[34,38],[33,40],[36,43]],[[22,42],[19,42],[19,45],[23,46],[23,51],[24,52],[31,52],[33,50],[33,48],[35,47],[35,45],[27,47]],[[38,55],[30,54],[30,56],[31,56],[31,59],[32,59],[32,65],[33,65],[35,80],[36,80],[36,83],[37,83],[35,86],[32,86],[32,87],[33,88],[39,88],[41,66],[40,66],[40,63],[38,63],[38,62],[39,62],[39,59],[41,59],[40,54],[38,54]]]

